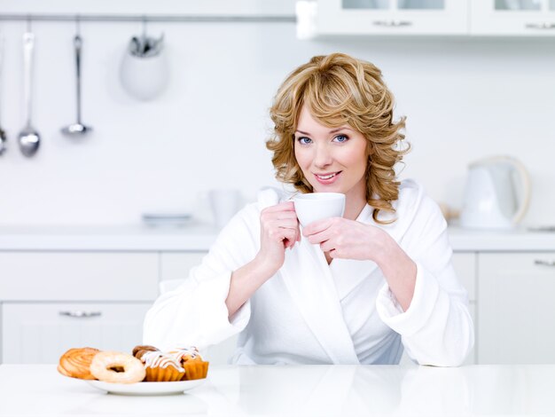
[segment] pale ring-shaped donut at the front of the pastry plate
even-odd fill
[[[90,374],[104,382],[135,383],[145,379],[145,366],[128,353],[107,350],[92,358]]]

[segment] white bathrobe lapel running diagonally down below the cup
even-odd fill
[[[301,240],[286,252],[281,276],[302,317],[334,364],[358,364],[324,253]]]

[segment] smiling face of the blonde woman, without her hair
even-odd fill
[[[344,193],[365,200],[368,158],[362,133],[348,125],[328,128],[303,106],[294,135],[295,158],[314,192]]]

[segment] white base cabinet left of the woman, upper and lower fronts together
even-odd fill
[[[158,296],[157,252],[0,252],[2,362],[52,363],[67,349],[129,351]]]

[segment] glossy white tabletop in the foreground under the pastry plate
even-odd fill
[[[3,365],[0,415],[555,415],[554,386],[555,365],[211,366],[185,394],[127,397],[53,365]]]

